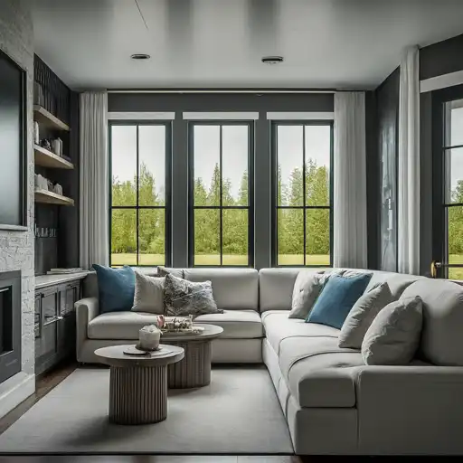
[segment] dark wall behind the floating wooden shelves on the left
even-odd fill
[[[35,166],[35,172],[58,182],[63,194],[71,197],[74,207],[35,203],[35,274],[42,275],[52,267],[79,265],[79,94],[34,55],[33,100],[71,127],[70,132],[53,131],[40,126],[40,138],[60,137],[63,154],[71,158],[74,170]],[[56,236],[37,236],[40,229],[56,231]]]

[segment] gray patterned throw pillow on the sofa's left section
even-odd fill
[[[165,275],[164,305],[165,315],[170,317],[223,313],[213,300],[211,281],[195,283],[169,273]]]

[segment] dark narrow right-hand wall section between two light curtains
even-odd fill
[[[378,225],[376,249],[378,269],[397,271],[397,158],[399,156],[400,68],[395,69],[375,90],[378,198],[375,222]],[[373,189],[370,190],[373,194]]]

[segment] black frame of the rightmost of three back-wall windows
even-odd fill
[[[301,206],[281,206],[278,204],[278,127],[279,126],[302,126],[303,127],[303,147],[302,147],[302,166],[303,179],[306,178],[306,129],[305,126],[326,126],[330,128],[330,166],[329,166],[329,205],[327,206],[307,206],[306,205],[306,182],[303,182],[303,198],[304,204]],[[334,120],[332,119],[288,119],[288,120],[272,120],[270,128],[271,136],[271,266],[293,267],[293,268],[313,268],[321,269],[333,267],[333,194],[334,194]],[[278,212],[279,209],[301,209],[304,211],[304,264],[279,264],[279,231],[278,231]],[[329,265],[307,265],[307,215],[306,211],[310,209],[328,209],[329,210]]]

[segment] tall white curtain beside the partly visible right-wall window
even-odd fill
[[[420,274],[420,89],[418,47],[401,61],[398,165],[398,269]]]

